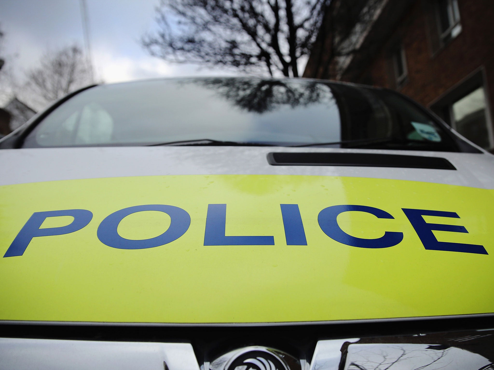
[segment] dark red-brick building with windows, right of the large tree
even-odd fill
[[[493,150],[494,0],[333,0],[303,76],[396,89]]]

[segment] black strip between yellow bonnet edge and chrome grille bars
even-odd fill
[[[115,326],[104,325],[53,325],[53,323],[2,324],[0,337],[81,339],[81,340],[131,340],[131,341],[221,341],[227,337],[243,338],[247,342],[259,342],[266,336],[293,340],[317,340],[383,335],[408,335],[494,328],[494,316],[416,318],[383,322],[313,323],[308,325],[281,326]],[[260,344],[262,345],[262,343]]]

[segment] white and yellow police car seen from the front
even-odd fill
[[[0,149],[0,369],[494,369],[494,156],[401,94],[90,86]]]

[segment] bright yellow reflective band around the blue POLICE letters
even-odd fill
[[[0,320],[233,323],[438,316],[494,312],[494,190],[401,180],[324,176],[182,175],[0,186],[0,256],[36,212],[88,210],[87,226],[34,237],[22,256],[0,258]],[[110,214],[170,205],[190,215],[178,239],[147,249],[111,248],[97,237]],[[274,245],[204,245],[208,204],[226,204],[227,236],[273,236]],[[307,245],[287,245],[281,204],[297,204]],[[344,212],[358,238],[403,233],[389,248],[329,238],[324,208],[361,205],[394,219]],[[454,212],[425,222],[439,241],[482,245],[488,255],[426,250],[402,208]],[[60,227],[67,216],[46,219]],[[298,221],[297,221],[298,222]],[[126,239],[160,235],[163,212],[127,216]]]

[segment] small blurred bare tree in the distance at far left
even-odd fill
[[[82,50],[75,44],[44,53],[40,66],[26,74],[26,81],[24,93],[41,98],[44,104],[92,82]]]

